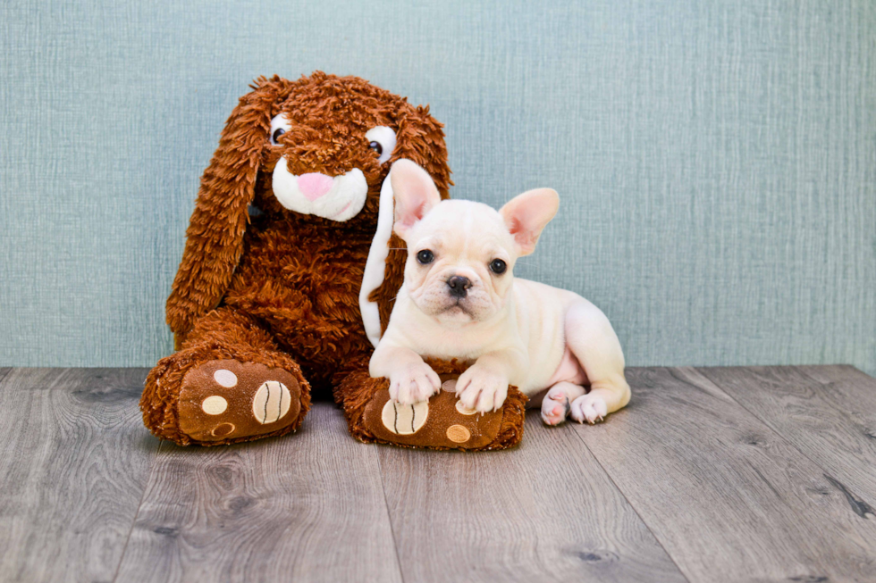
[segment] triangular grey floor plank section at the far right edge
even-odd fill
[[[850,496],[876,507],[876,379],[839,366],[700,371]]]

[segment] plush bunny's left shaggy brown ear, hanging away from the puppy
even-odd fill
[[[243,250],[262,150],[268,144],[271,112],[289,95],[292,83],[277,76],[260,77],[252,87],[228,118],[201,177],[180,269],[167,298],[167,324],[177,348],[193,321],[213,309],[231,283]]]

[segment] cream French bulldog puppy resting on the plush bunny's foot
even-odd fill
[[[395,232],[408,245],[404,285],[371,357],[372,377],[390,379],[402,404],[441,390],[420,356],[475,361],[457,381],[459,400],[479,412],[504,403],[508,385],[541,404],[556,425],[571,414],[594,423],[629,402],[618,336],[599,308],[570,291],[514,279],[560,197],[530,190],[496,212],[441,200],[425,170],[392,165]],[[585,389],[590,387],[589,392]]]

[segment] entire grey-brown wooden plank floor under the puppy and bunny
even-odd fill
[[[0,581],[876,581],[876,379],[629,369],[517,449],[159,443],[144,369],[0,369]]]

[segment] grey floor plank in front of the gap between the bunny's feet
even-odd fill
[[[375,446],[332,404],[298,434],[163,442],[119,581],[400,581]]]

